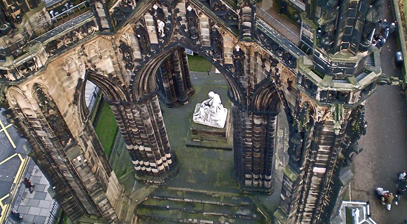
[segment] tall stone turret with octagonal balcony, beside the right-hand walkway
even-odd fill
[[[366,125],[363,104],[381,75],[379,50],[370,46],[380,5],[380,0],[306,3],[301,37],[313,54],[298,63],[302,97],[289,122],[290,161],[276,223],[329,223],[338,214],[351,181],[348,166],[362,151],[354,130]],[[309,121],[301,131],[305,108]]]

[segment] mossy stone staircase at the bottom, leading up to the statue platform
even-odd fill
[[[264,224],[265,216],[245,195],[159,188],[138,205],[138,224]]]

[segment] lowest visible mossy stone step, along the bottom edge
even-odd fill
[[[179,211],[179,210],[162,210],[158,208],[151,207],[139,207],[137,209],[137,217],[142,220],[169,220],[169,221],[178,221],[182,223],[196,223],[196,224],[264,224],[264,220],[258,219],[242,219],[238,217],[225,217],[222,215],[214,214],[202,214],[202,213],[192,213],[188,211]],[[152,221],[150,223],[158,223]],[[165,222],[164,222],[165,223]]]

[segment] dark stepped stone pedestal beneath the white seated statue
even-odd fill
[[[231,150],[233,148],[233,132],[229,111],[227,110],[225,125],[222,129],[195,123],[191,118],[186,145],[189,147]]]

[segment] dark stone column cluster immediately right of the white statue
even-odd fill
[[[253,114],[232,107],[234,176],[249,191],[271,193],[277,114]]]

